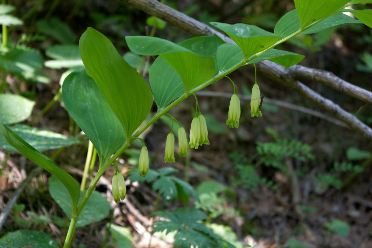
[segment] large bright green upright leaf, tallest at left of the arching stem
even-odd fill
[[[127,139],[153,104],[150,87],[102,33],[88,28],[79,41],[81,59],[125,129]]]

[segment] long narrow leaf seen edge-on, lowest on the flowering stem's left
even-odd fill
[[[55,175],[63,183],[68,194],[70,194],[71,206],[74,210],[73,212],[76,212],[77,202],[80,196],[80,189],[77,181],[71,177],[70,174],[58,167],[47,156],[37,151],[2,123],[0,123],[0,132],[4,136],[5,140],[16,148],[23,156]]]

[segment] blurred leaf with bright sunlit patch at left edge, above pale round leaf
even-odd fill
[[[8,52],[0,55],[0,67],[26,79],[34,77],[35,72],[42,68],[43,62],[40,52],[35,49],[10,48]]]

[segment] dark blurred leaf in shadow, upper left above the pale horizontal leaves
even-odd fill
[[[74,44],[76,42],[76,35],[70,26],[57,17],[52,17],[50,20],[38,20],[36,27],[40,32],[51,36],[62,44]]]

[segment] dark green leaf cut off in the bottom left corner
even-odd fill
[[[20,247],[59,248],[60,246],[48,234],[35,230],[8,232],[0,238],[0,248]]]

